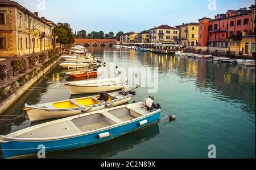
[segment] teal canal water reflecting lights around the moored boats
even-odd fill
[[[154,78],[158,92],[150,94],[143,86],[135,89],[137,96],[131,102],[154,96],[163,113],[175,114],[177,120],[164,119],[109,142],[47,154],[47,158],[208,158],[210,144],[216,146],[217,158],[255,158],[255,67],[114,47],[88,50],[106,63],[98,69],[100,78],[106,69],[113,69],[115,74],[131,67],[158,72],[158,78]],[[53,68],[5,114],[22,115],[24,103],[78,97],[71,96],[63,84],[71,81],[66,71],[59,66]],[[140,76],[138,73],[135,78]],[[31,124],[26,117],[0,121],[0,134],[33,125],[36,123]]]

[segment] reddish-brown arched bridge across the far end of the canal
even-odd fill
[[[117,39],[75,39],[75,45],[83,46],[112,46],[117,44]]]

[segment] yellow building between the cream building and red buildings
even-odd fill
[[[199,42],[199,23],[188,23],[177,26],[180,29],[180,37],[175,43],[184,46],[197,46]]]

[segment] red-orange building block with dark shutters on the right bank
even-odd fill
[[[199,45],[229,48],[251,55],[255,52],[255,5],[249,9],[228,10],[214,19],[199,19]]]

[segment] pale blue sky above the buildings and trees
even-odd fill
[[[204,16],[255,5],[255,0],[13,0],[73,31],[140,32],[154,26],[198,22]]]

